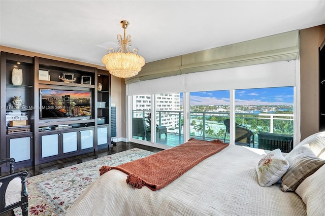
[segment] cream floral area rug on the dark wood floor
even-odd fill
[[[103,166],[117,166],[153,152],[131,149],[27,178],[28,215],[64,215]],[[14,209],[20,216],[21,209]]]

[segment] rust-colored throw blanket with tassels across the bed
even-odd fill
[[[126,183],[133,188],[147,186],[153,191],[164,188],[204,159],[228,147],[219,139],[213,141],[189,139],[180,146],[157,152],[145,158],[115,167],[103,166],[101,175],[118,169],[127,175]]]

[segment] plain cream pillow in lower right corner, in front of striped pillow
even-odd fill
[[[325,215],[325,165],[307,177],[297,188],[296,193],[306,204],[307,215]]]

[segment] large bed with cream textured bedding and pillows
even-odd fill
[[[307,137],[288,154],[280,152],[288,163],[276,167],[274,184],[262,187],[258,166],[271,156],[277,161],[274,155],[229,145],[156,191],[134,189],[125,172],[112,169],[66,215],[325,215],[325,132]],[[283,167],[277,181],[274,175]]]

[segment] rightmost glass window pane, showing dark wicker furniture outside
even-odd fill
[[[237,145],[262,148],[261,131],[293,136],[294,87],[235,90],[235,120]]]

